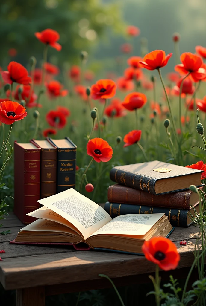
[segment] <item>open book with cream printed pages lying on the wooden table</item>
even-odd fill
[[[122,215],[112,220],[101,206],[73,188],[38,202],[44,206],[28,215],[39,219],[23,227],[12,243],[84,242],[87,249],[142,253],[145,240],[167,237],[173,229],[165,214]]]

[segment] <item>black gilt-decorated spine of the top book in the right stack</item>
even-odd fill
[[[121,185],[156,195],[154,190],[156,179],[152,177],[137,173],[134,174],[133,172],[124,171],[114,167],[110,171],[110,179]]]

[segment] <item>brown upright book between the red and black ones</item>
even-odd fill
[[[40,198],[56,193],[56,153],[57,147],[46,140],[31,140],[41,148],[41,185]]]

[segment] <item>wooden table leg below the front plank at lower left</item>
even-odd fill
[[[17,289],[17,306],[45,306],[45,287]]]

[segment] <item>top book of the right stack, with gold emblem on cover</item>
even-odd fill
[[[159,195],[186,190],[190,185],[202,186],[202,172],[154,160],[113,167],[110,179],[127,187]]]

